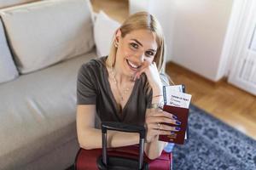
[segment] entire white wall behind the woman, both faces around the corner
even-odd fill
[[[233,0],[130,0],[130,11],[146,10],[160,20],[167,61],[218,81],[229,61],[222,51],[232,4]]]

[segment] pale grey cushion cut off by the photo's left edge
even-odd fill
[[[3,30],[2,20],[0,19],[0,83],[8,82],[18,76],[19,73],[16,69],[12,55],[10,54]]]

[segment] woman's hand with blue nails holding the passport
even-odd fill
[[[172,124],[173,127],[165,123]],[[150,111],[147,111],[145,120],[147,129],[146,141],[150,143],[157,140],[159,135],[168,135],[179,131],[180,127],[175,127],[175,125],[180,125],[180,123],[177,120],[177,116],[171,113],[160,109],[150,109]]]

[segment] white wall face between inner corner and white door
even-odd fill
[[[176,0],[173,62],[218,81],[232,3],[233,0]]]

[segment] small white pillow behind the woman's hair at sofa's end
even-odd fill
[[[100,11],[99,14],[96,14],[96,21],[94,24],[94,38],[96,43],[97,56],[102,57],[108,55],[114,31],[116,31],[119,26],[119,22],[109,18],[108,15],[103,11]]]

